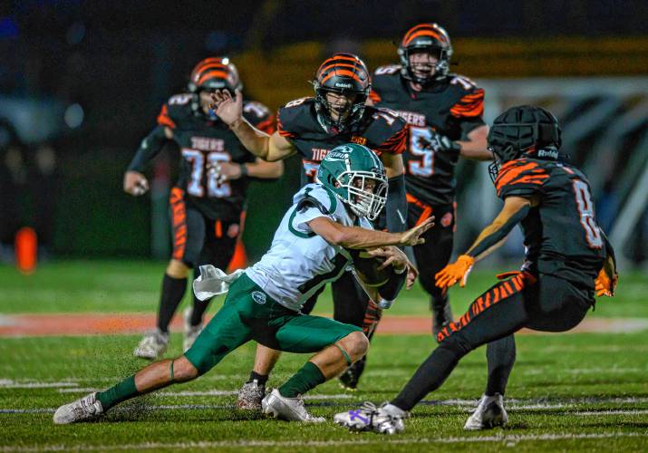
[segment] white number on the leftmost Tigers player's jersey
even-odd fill
[[[207,165],[215,165],[218,162],[228,162],[229,154],[227,152],[212,151],[207,153],[207,162],[205,154],[198,149],[182,149],[182,157],[191,164],[191,176],[187,184],[189,195],[194,197],[204,197],[205,188],[202,186],[202,175]],[[232,195],[232,188],[229,183],[218,184],[218,175],[214,172],[207,173],[207,196],[210,198],[226,198]]]

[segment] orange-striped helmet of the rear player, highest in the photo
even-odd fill
[[[419,52],[432,53],[438,60],[434,74],[430,77],[417,77],[411,71],[410,55]],[[438,24],[415,25],[402,37],[398,55],[401,59],[401,74],[406,79],[422,84],[443,79],[450,69],[450,57],[452,56],[450,36]]]

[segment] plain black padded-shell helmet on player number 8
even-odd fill
[[[494,159],[488,167],[490,178],[494,181],[503,164],[523,156],[558,159],[560,133],[558,120],[550,111],[534,105],[511,107],[488,130],[488,149]]]

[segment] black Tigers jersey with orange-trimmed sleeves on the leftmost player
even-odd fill
[[[248,178],[218,184],[208,166],[230,161],[242,164],[256,158],[221,120],[196,114],[192,101],[189,93],[171,96],[158,116],[158,124],[173,130],[180,149],[177,186],[184,190],[188,205],[206,217],[237,221],[245,209]],[[260,102],[244,101],[243,115],[257,129],[274,132],[274,116]]]

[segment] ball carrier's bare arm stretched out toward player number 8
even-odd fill
[[[434,217],[430,217],[421,225],[414,226],[402,233],[388,233],[359,226],[343,226],[329,217],[316,217],[308,223],[308,226],[316,235],[324,237],[326,242],[334,246],[369,249],[382,246],[418,246],[423,244],[425,239],[421,235],[434,225],[433,219]]]

